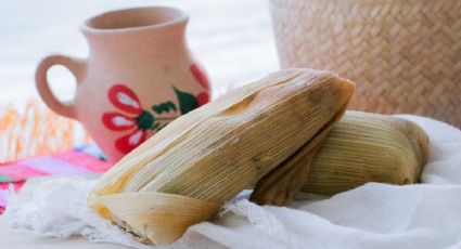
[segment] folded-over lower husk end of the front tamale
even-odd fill
[[[166,245],[212,219],[220,205],[158,192],[91,195],[89,205],[144,244]]]

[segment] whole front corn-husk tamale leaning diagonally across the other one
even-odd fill
[[[354,83],[290,69],[168,124],[99,181],[89,205],[145,243],[168,244],[209,219],[344,114]]]

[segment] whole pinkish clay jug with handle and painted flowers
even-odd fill
[[[46,57],[36,86],[55,113],[84,123],[111,162],[155,134],[176,117],[208,102],[206,74],[188,49],[188,15],[172,8],[108,12],[81,26],[87,60]],[[47,71],[67,67],[77,79],[75,100],[60,102]]]

